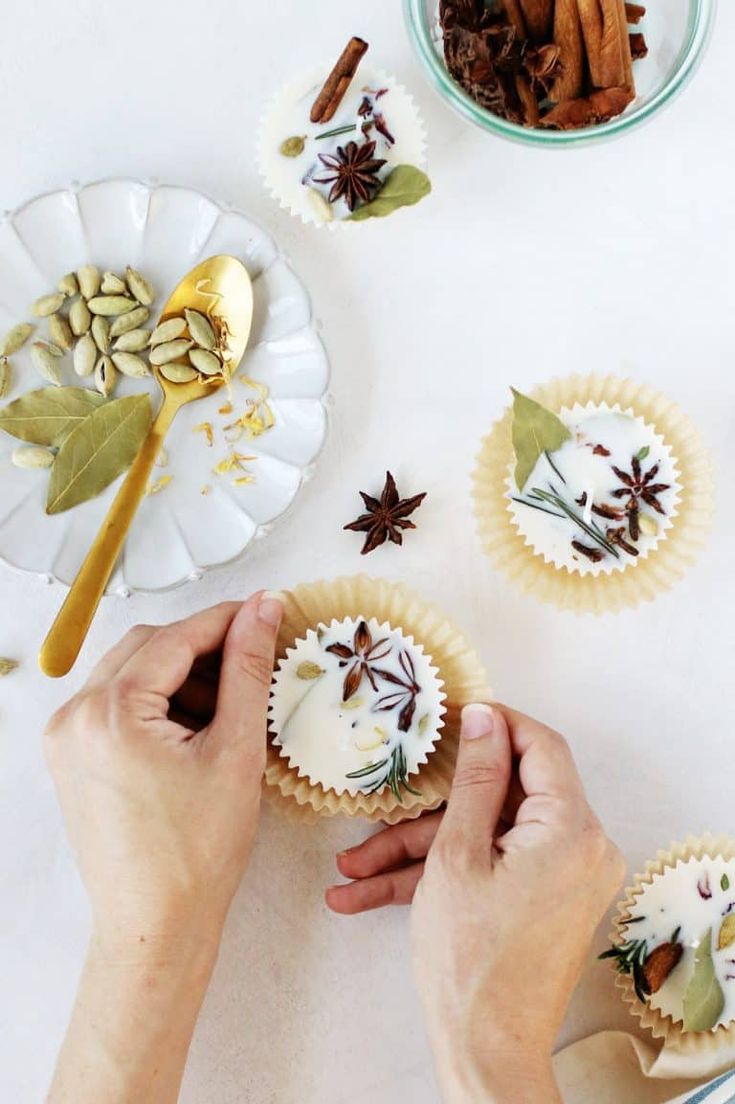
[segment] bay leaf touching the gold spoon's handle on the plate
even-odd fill
[[[148,395],[129,395],[98,406],[64,440],[51,469],[46,513],[95,498],[136,458],[150,427]]]

